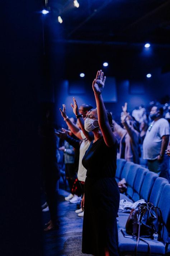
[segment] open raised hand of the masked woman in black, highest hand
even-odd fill
[[[104,88],[104,83],[105,83],[106,77],[103,77],[103,72],[102,70],[97,72],[96,78],[93,81],[92,88],[93,91],[97,94],[101,94]]]

